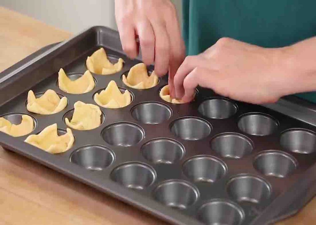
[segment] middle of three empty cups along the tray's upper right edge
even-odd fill
[[[273,134],[278,127],[274,118],[263,113],[247,113],[238,121],[238,128],[247,134],[266,136]]]

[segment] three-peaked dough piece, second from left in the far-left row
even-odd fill
[[[54,114],[67,106],[66,97],[61,99],[54,90],[48,89],[42,96],[36,98],[32,90],[27,94],[27,110],[42,115]]]

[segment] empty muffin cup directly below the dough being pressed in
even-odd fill
[[[211,130],[211,124],[198,117],[182,117],[171,123],[171,132],[188,141],[203,139],[210,135]]]

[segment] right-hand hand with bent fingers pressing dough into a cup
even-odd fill
[[[284,51],[221,38],[200,55],[185,58],[174,77],[176,97],[191,101],[199,85],[238,101],[275,102],[291,92],[297,79],[284,70]]]

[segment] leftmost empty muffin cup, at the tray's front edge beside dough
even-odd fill
[[[87,170],[103,170],[114,161],[114,153],[100,145],[88,145],[78,148],[70,156],[70,162]]]

